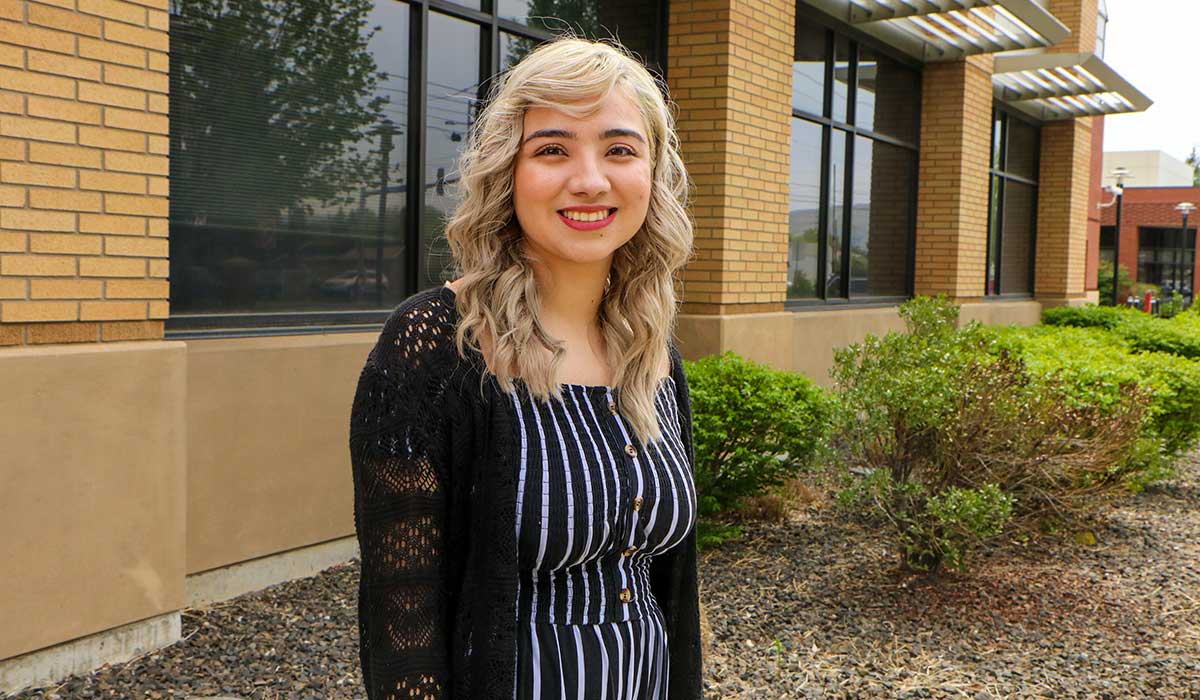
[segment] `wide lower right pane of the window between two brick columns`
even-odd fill
[[[854,140],[854,205],[850,227],[850,297],[901,297],[908,291],[913,151]]]

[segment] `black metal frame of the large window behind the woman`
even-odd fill
[[[404,191],[404,288],[408,297],[421,291],[420,280],[425,270],[426,251],[421,250],[421,231],[425,225],[425,131],[426,131],[426,72],[428,67],[430,14],[437,12],[446,17],[475,24],[480,31],[479,50],[479,98],[484,98],[496,78],[500,65],[502,32],[533,41],[548,41],[554,35],[498,16],[496,0],[481,0],[482,10],[472,10],[450,0],[376,0],[407,5],[408,18],[408,115],[406,131],[420,134],[407,138],[406,183],[421,183],[420,187]],[[653,55],[646,56],[648,67],[664,80],[667,70],[667,18],[668,0],[656,2],[656,28],[653,35]],[[274,335],[310,335],[326,333],[377,331],[388,319],[392,306],[383,309],[347,309],[336,311],[274,311],[274,312],[200,312],[170,313],[164,323],[166,340],[252,337]]]

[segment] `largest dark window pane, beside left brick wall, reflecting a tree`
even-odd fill
[[[408,6],[173,8],[172,312],[402,300]]]

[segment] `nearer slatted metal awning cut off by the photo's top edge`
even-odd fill
[[[1037,0],[804,0],[923,61],[1044,48],[1070,30]]]

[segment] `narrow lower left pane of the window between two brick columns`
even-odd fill
[[[792,120],[792,174],[787,214],[787,298],[817,294],[821,220],[821,125]]]

